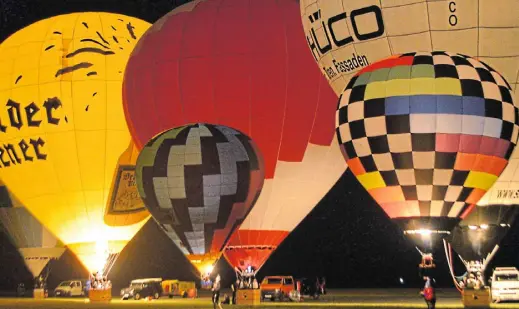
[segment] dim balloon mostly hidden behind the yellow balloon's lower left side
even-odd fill
[[[42,274],[51,260],[59,259],[65,252],[64,245],[3,184],[0,185],[0,228],[18,249],[34,278]]]

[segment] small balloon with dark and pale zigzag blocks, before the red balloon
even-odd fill
[[[202,278],[249,213],[264,178],[254,142],[224,126],[170,129],[152,138],[137,159],[146,207]]]

